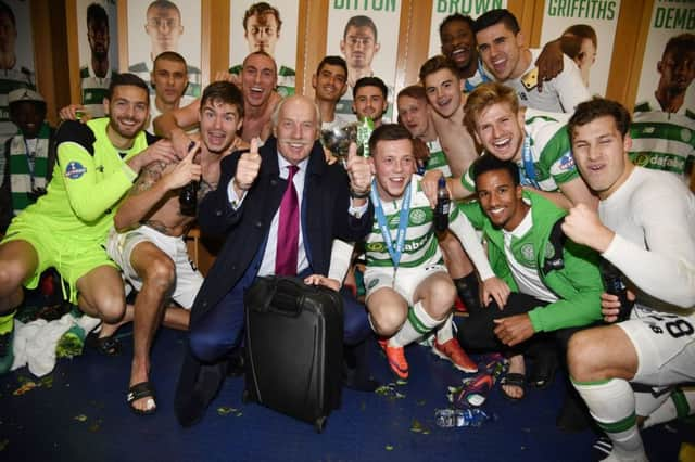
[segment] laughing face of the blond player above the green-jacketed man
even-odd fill
[[[523,116],[515,114],[508,103],[483,108],[475,119],[476,139],[488,154],[501,161],[519,161],[523,142]]]

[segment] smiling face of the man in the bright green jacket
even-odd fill
[[[509,171],[488,170],[476,178],[476,193],[480,208],[490,221],[507,231],[519,226],[528,211],[522,188],[515,184]]]

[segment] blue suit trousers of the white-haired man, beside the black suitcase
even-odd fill
[[[305,271],[306,277],[311,271]],[[244,307],[243,294],[255,277],[244,275],[235,287],[194,325],[189,334],[193,355],[203,362],[215,362],[237,348],[243,336]],[[352,293],[344,287],[343,297],[343,342],[355,345],[371,333],[367,311]]]

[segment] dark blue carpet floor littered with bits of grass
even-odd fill
[[[20,369],[0,377],[0,461],[591,461],[596,435],[565,434],[555,418],[565,393],[559,376],[546,390],[527,389],[519,402],[496,386],[485,411],[495,420],[479,428],[438,428],[434,410],[446,406],[446,386],[465,374],[425,347],[406,349],[410,381],[402,398],[344,390],[323,434],[312,425],[241,402],[242,378],[228,378],[197,426],[181,428],[173,412],[185,334],[162,330],[153,348],[155,415],[137,416],[125,403],[131,337],[106,358],[87,350],[59,361],[41,380]],[[375,376],[391,378],[376,344]],[[36,387],[15,396],[27,381]],[[675,423],[644,432],[652,461],[677,461],[692,425]]]

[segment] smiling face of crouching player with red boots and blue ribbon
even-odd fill
[[[381,140],[377,142],[369,163],[379,197],[382,201],[401,198],[416,170],[413,141]]]

